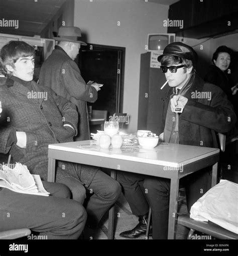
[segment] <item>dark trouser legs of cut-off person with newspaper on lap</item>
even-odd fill
[[[43,186],[51,196],[0,190],[0,230],[30,228],[47,239],[77,239],[86,222],[85,209],[69,199],[65,185],[43,182]]]

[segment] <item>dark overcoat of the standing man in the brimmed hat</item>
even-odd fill
[[[90,139],[86,102],[95,102],[97,91],[85,83],[77,64],[61,47],[56,46],[43,63],[39,83],[76,105],[79,122],[78,135],[74,140]]]

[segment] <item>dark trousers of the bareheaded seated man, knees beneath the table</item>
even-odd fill
[[[85,188],[79,180],[63,178],[58,182],[65,184],[72,192],[73,199],[83,203],[91,225],[97,225],[105,212],[121,195],[121,185],[110,176],[97,170],[89,187]],[[87,198],[86,198],[87,190]]]

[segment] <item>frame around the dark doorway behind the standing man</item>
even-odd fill
[[[101,44],[90,44],[81,46],[80,51],[116,51],[117,52],[117,75],[116,75],[116,102],[115,113],[123,113],[123,96],[124,96],[124,76],[125,76],[125,56],[126,47],[109,46]],[[79,53],[80,56],[80,53]],[[81,59],[78,58],[79,68],[81,67]],[[120,70],[120,73],[118,73]]]

